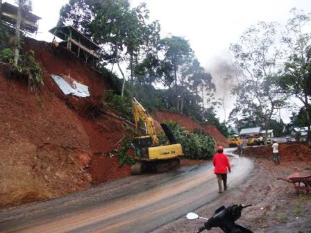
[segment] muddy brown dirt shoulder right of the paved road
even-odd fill
[[[249,149],[249,156],[253,157]],[[248,156],[246,154],[246,156]],[[244,157],[240,158],[244,159]],[[275,165],[267,158],[252,158],[255,162],[254,170],[249,180],[235,189],[230,189],[230,174],[228,175],[229,189],[219,194],[219,198],[206,203],[194,210],[199,215],[210,217],[221,205],[252,204],[245,209],[237,223],[245,225],[253,232],[311,232],[311,195],[305,192],[296,194],[293,184],[279,177],[287,177],[294,172],[311,173],[311,162],[287,161]],[[217,181],[215,179],[215,185]],[[185,213],[187,214],[187,213]],[[203,225],[204,221],[188,221],[185,217],[165,225],[156,233],[165,232],[194,232]],[[222,232],[219,229],[210,232]]]

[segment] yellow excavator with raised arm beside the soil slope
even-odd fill
[[[161,123],[169,144],[160,145],[153,118],[136,98],[133,98],[132,103],[136,131],[134,137],[136,163],[131,166],[131,174],[137,175],[144,171],[161,172],[178,166],[179,157],[183,155],[183,148],[176,143],[167,125]]]

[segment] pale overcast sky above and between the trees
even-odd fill
[[[3,0],[3,2],[6,0]],[[10,3],[14,1],[7,0]],[[56,26],[61,6],[68,0],[32,0],[33,13],[42,17],[37,40],[51,42],[47,31]],[[296,7],[311,12],[311,0],[130,0],[133,6],[146,2],[151,20],[159,20],[162,36],[178,35],[190,41],[196,57],[212,74],[218,96],[225,98],[226,116],[233,108],[230,87],[222,83],[221,69],[230,60],[228,48],[237,42],[246,28],[258,21],[277,21],[284,24],[289,10]],[[218,112],[224,119],[224,110]],[[289,121],[288,114],[282,114]]]

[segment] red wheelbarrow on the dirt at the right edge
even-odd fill
[[[277,180],[285,180],[286,182],[294,184],[296,193],[301,190],[306,190],[311,193],[311,174],[306,173],[293,173],[287,178],[276,178]],[[304,185],[303,185],[304,184]]]

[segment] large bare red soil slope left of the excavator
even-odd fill
[[[106,155],[124,137],[121,121],[85,114],[110,89],[105,78],[65,49],[31,39],[25,46],[42,63],[44,87],[37,95],[28,93],[26,80],[5,78],[0,67],[0,207],[129,175],[128,166]],[[50,74],[69,74],[89,86],[91,97],[62,94]]]

